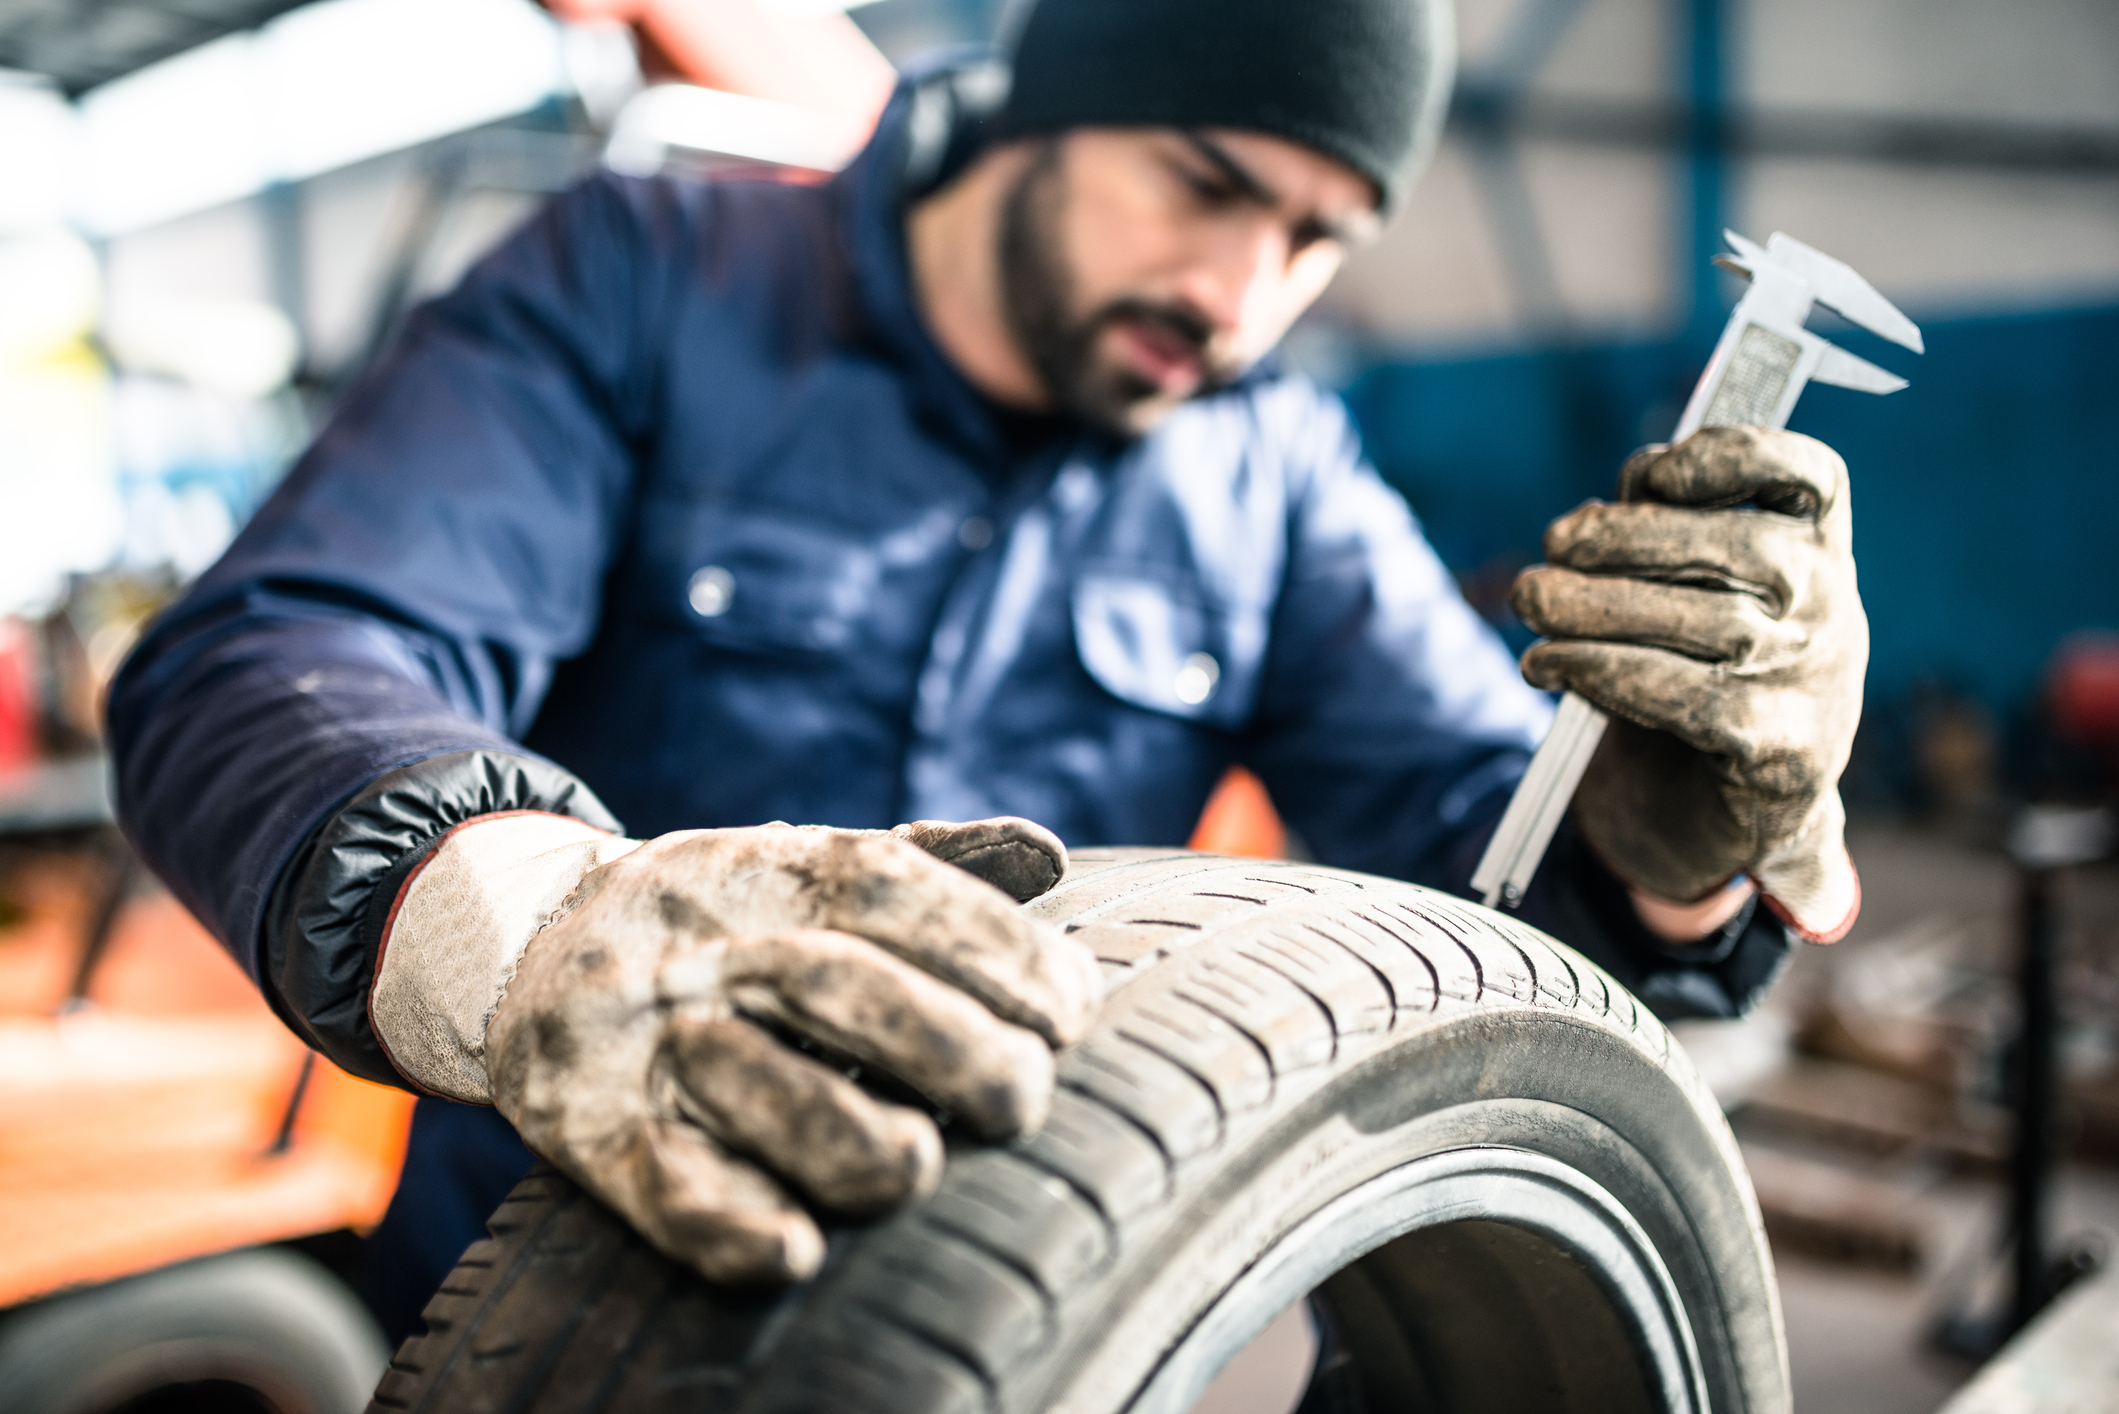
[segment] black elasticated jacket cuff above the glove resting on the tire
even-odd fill
[[[392,905],[451,829],[532,810],[621,833],[566,770],[528,753],[458,750],[400,765],[324,818],[273,882],[259,975],[297,1035],[337,1066],[417,1088],[390,1062],[369,1018]]]

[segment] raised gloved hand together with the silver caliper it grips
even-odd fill
[[[1920,331],[1801,242],[1729,242],[1721,263],[1752,284],[1676,443],[1625,464],[1617,505],[1553,522],[1549,564],[1515,585],[1515,611],[1547,634],[1524,674],[1568,695],[1473,888],[1519,901],[1572,797],[1651,924],[1712,926],[1757,888],[1801,937],[1833,941],[1860,903],[1839,774],[1869,621],[1846,464],[1780,428],[1810,379],[1905,386],[1803,329],[1812,301],[1911,350]]]

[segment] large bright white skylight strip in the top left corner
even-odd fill
[[[534,108],[564,85],[530,0],[322,0],[87,93],[74,216],[119,235]]]

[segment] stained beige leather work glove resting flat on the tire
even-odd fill
[[[1013,818],[640,844],[483,816],[400,895],[375,1035],[420,1085],[496,1104],[667,1255],[795,1280],[824,1257],[805,1202],[873,1215],[941,1177],[934,1121],[848,1066],[981,1138],[1043,1124],[1053,1047],[1087,1030],[1100,982],[1015,897],[1064,871],[1060,839]]]

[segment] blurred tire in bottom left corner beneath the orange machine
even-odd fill
[[[337,1276],[246,1249],[0,1316],[8,1414],[354,1414],[390,1359]]]

